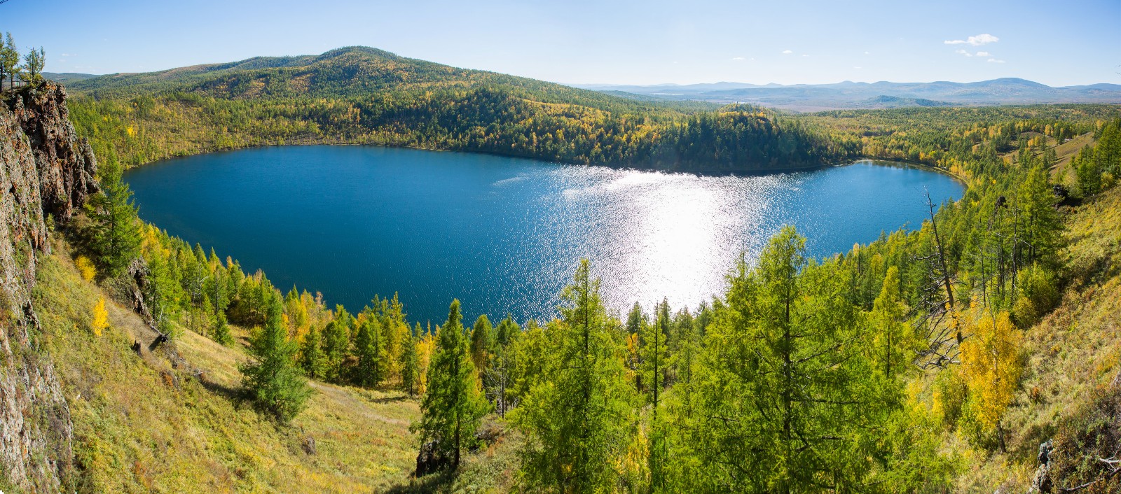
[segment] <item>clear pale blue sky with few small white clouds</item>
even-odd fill
[[[8,0],[0,30],[94,74],[365,45],[569,84],[1121,83],[1121,0]]]

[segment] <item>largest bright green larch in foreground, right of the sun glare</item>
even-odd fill
[[[785,227],[756,269],[740,260],[705,334],[682,441],[694,491],[861,490],[888,408],[863,356],[850,272],[805,258]]]

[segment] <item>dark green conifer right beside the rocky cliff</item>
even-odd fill
[[[109,153],[99,167],[101,192],[86,205],[93,229],[90,249],[108,277],[120,274],[140,254],[140,226],[132,190],[120,164]]]

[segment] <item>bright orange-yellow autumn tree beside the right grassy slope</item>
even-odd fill
[[[1012,325],[1008,311],[992,315],[982,310],[973,320],[963,317],[963,325],[972,333],[961,346],[962,381],[967,390],[966,418],[979,432],[997,432],[997,440],[1004,448],[1000,420],[1012,404],[1020,384],[1023,364],[1020,358],[1022,336]]]

